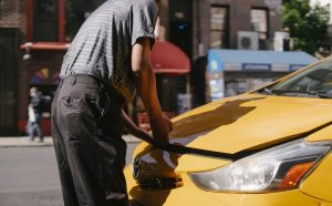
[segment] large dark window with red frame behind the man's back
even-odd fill
[[[105,0],[27,0],[27,39],[72,41],[85,19]],[[0,0],[0,3],[2,1]]]

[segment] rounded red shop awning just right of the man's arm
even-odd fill
[[[189,58],[170,42],[155,42],[151,58],[156,73],[185,74],[190,71]]]

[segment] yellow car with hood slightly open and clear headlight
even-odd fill
[[[332,59],[173,120],[125,176],[142,206],[332,206]]]

